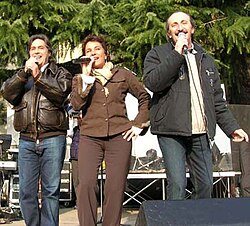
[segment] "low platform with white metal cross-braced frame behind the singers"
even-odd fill
[[[241,173],[237,171],[227,171],[227,172],[213,172],[213,198],[231,198],[235,197],[235,189],[237,187],[237,176]],[[189,181],[189,173],[186,174]],[[101,181],[103,177],[103,182],[105,182],[106,175],[99,175],[98,179]],[[139,182],[142,182],[139,184]],[[133,184],[137,182],[137,184]],[[161,199],[166,200],[166,173],[163,171],[130,171],[127,177],[127,188],[125,190],[125,199],[123,206],[129,204],[131,201],[133,203],[141,205],[143,201],[150,199]],[[154,185],[158,185],[156,191],[160,193],[160,197],[152,198],[146,193],[152,191]],[[160,184],[160,188],[159,188]],[[102,183],[100,183],[100,196],[102,197]],[[146,195],[145,195],[146,194]],[[187,186],[186,189],[186,198],[190,198],[192,190]]]

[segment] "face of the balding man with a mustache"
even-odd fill
[[[168,18],[168,31],[167,35],[170,39],[173,40],[174,44],[178,40],[178,34],[183,32],[186,34],[188,43],[192,42],[192,34],[194,33],[194,27],[190,22],[190,17],[186,13],[177,12],[173,13]]]

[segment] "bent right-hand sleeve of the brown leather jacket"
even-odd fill
[[[35,85],[43,96],[57,107],[62,107],[71,92],[72,75],[63,67],[54,74],[45,71],[35,80]]]

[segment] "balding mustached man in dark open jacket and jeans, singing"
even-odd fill
[[[223,99],[213,59],[196,43],[194,21],[183,12],[166,21],[169,43],[150,50],[144,62],[144,83],[153,92],[151,132],[158,137],[165,161],[170,200],[185,198],[186,164],[193,198],[211,197],[210,140],[216,123],[233,141],[247,141]]]

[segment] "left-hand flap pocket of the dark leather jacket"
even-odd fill
[[[13,122],[15,130],[17,132],[25,131],[28,124],[27,102],[22,102],[18,106],[13,107],[13,110],[15,111]]]

